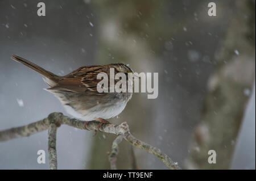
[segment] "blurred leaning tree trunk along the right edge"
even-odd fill
[[[193,131],[188,169],[229,169],[245,105],[255,79],[255,1],[234,1],[236,10],[208,81],[201,124]],[[218,9],[218,5],[217,5]],[[215,150],[216,164],[208,163]]]

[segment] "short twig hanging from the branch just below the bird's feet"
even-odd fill
[[[113,141],[112,144],[112,151],[109,154],[109,162],[110,162],[110,168],[112,170],[117,170],[117,165],[116,165],[116,161],[117,161],[117,154],[118,154],[118,144],[123,140],[123,136],[122,134],[118,135],[117,138],[115,138],[115,140]]]

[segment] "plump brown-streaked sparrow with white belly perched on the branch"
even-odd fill
[[[113,68],[115,73],[125,73],[125,75],[133,73],[128,65],[122,63],[81,66],[67,75],[60,76],[14,54],[11,59],[43,75],[44,82],[49,86],[45,90],[51,92],[60,100],[69,115],[84,120],[85,129],[87,129],[86,125],[89,121],[93,120],[101,122],[98,124],[98,129],[103,123],[110,124],[106,119],[119,115],[125,109],[133,94],[128,91],[97,91],[97,84],[101,81],[101,79],[97,79],[99,73],[106,73],[110,77],[110,68]],[[110,78],[108,81],[110,81]],[[114,82],[117,82],[117,80],[114,80]]]

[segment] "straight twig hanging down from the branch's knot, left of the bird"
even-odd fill
[[[49,169],[57,169],[57,153],[56,153],[56,133],[57,126],[52,123],[48,129],[48,154],[49,154]]]

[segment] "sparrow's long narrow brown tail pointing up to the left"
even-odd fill
[[[58,75],[55,75],[55,74],[51,73],[50,71],[47,71],[47,70],[41,68],[40,66],[33,64],[32,62],[30,62],[22,57],[16,56],[15,54],[13,54],[13,56],[11,56],[11,59],[28,66],[29,68],[35,70],[37,73],[46,77],[47,80],[44,79],[44,81],[46,81],[46,83],[48,85],[51,84],[49,86],[53,86],[53,84],[56,84],[60,79],[60,77]]]

